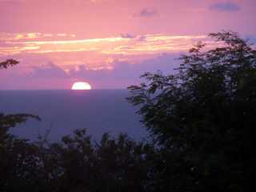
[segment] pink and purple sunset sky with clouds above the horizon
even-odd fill
[[[125,89],[212,32],[256,42],[255,0],[0,0],[0,90]]]

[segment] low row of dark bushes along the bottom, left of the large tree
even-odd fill
[[[149,191],[153,146],[86,130],[58,143],[10,137],[0,147],[0,191]]]

